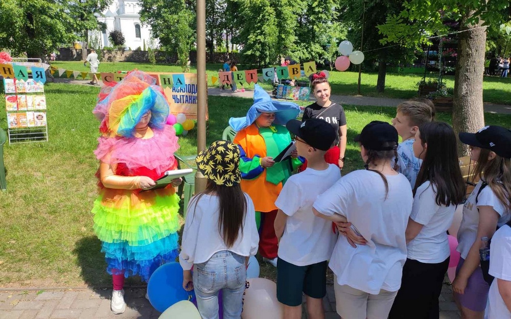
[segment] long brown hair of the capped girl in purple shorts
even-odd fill
[[[504,158],[495,154],[495,158],[490,160],[490,150],[481,149],[479,159],[474,168],[473,181],[482,178],[499,201],[511,211],[511,159]]]

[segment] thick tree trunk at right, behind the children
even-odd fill
[[[460,22],[460,31],[480,27],[466,25],[466,19],[473,14],[469,12]],[[482,81],[484,74],[484,53],[486,50],[486,29],[479,28],[464,31],[458,35],[458,59],[454,75],[454,101],[452,125],[456,136],[459,132],[475,133],[484,127],[482,103]],[[458,155],[469,154],[468,146],[458,143]]]

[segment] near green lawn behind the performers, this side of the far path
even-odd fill
[[[6,144],[8,190],[0,192],[0,286],[109,285],[90,209],[96,197],[99,122],[91,111],[99,87],[50,83],[45,86],[49,141]],[[5,109],[3,97],[0,109]],[[244,116],[249,99],[209,96],[208,143],[220,139],[231,116]],[[348,148],[343,173],[361,168],[352,142],[371,120],[390,121],[394,108],[345,106]],[[439,114],[450,121],[450,115]],[[0,112],[0,127],[6,129]],[[487,124],[509,126],[510,115],[486,114]],[[179,138],[178,153],[196,153],[196,129]],[[261,264],[263,276],[274,278]],[[131,281],[137,282],[135,281]]]

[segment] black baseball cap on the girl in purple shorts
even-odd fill
[[[459,133],[459,140],[463,144],[493,151],[504,158],[511,158],[511,131],[501,126],[486,126],[477,133]]]

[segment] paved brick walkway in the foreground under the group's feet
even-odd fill
[[[1,289],[1,288],[0,288]],[[145,299],[142,288],[125,289],[126,311],[110,311],[111,289],[52,289],[0,291],[0,319],[157,319],[160,315]],[[440,319],[459,319],[452,289],[444,284],[440,295]],[[340,319],[335,312],[334,287],[327,286],[323,299],[326,319]],[[307,319],[306,306],[303,319]]]

